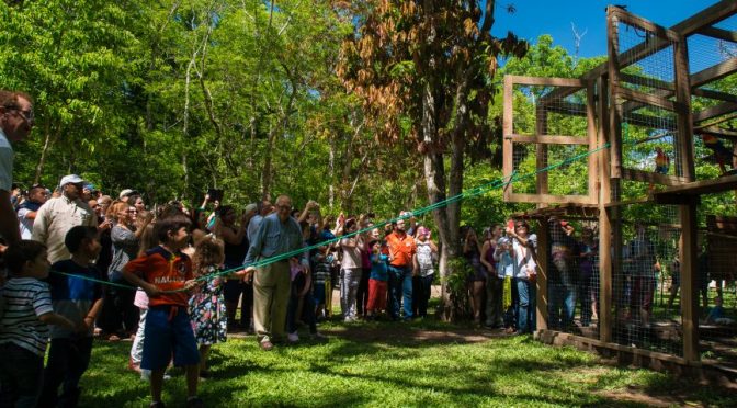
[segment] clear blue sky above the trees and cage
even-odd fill
[[[581,39],[579,57],[593,57],[606,54],[606,13],[608,4],[627,5],[627,11],[670,27],[673,24],[718,2],[717,0],[497,0],[496,22],[491,32],[506,36],[507,31],[535,42],[541,34],[551,34],[555,45],[560,45],[572,55],[575,50],[574,33],[570,23],[579,33],[587,31]],[[507,12],[507,4],[513,4],[517,11]]]

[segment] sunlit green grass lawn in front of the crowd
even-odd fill
[[[592,354],[438,321],[325,324],[324,344],[258,349],[252,336],[214,349],[209,407],[239,406],[737,406],[737,393],[666,374],[601,365]],[[125,369],[129,342],[94,344],[81,406],[148,406]],[[183,406],[174,373],[165,403]]]

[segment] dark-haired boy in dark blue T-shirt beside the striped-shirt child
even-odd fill
[[[38,403],[41,407],[77,406],[79,379],[87,371],[92,354],[94,319],[102,309],[102,287],[93,281],[100,273],[92,263],[102,248],[98,229],[81,225],[72,227],[64,243],[71,259],[52,265],[52,274],[48,276],[52,303],[54,310],[71,320],[79,330],[52,328],[52,347]],[[63,383],[59,396],[58,388]]]

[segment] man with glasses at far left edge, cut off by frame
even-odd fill
[[[13,184],[13,147],[33,128],[33,100],[23,92],[0,90],[0,235],[7,243],[21,240],[18,218],[10,201]],[[4,247],[0,246],[0,252]]]

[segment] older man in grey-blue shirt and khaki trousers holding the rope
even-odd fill
[[[262,350],[273,349],[274,341],[284,338],[286,310],[290,302],[290,258],[269,262],[303,248],[302,228],[291,216],[292,199],[280,195],[276,212],[261,220],[258,231],[251,236],[251,246],[243,260],[246,274],[253,274],[253,327]],[[304,268],[309,268],[307,253],[293,253]],[[280,257],[281,258],[281,257]],[[256,268],[257,261],[268,264]]]

